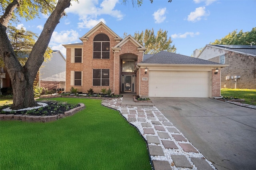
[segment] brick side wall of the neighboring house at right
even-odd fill
[[[220,62],[220,57],[214,57],[209,61]],[[221,70],[221,88],[248,88],[256,89],[256,57],[242,55],[234,52],[225,54],[225,64],[229,66]],[[226,80],[230,76],[230,80]],[[236,81],[231,76],[241,76]]]

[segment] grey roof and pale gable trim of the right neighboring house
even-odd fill
[[[204,47],[204,49],[207,46],[256,57],[256,45],[210,45],[208,44]],[[204,51],[204,49],[202,51]],[[197,57],[199,56],[200,54]]]

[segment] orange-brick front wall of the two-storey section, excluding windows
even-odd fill
[[[77,88],[79,92],[86,93],[90,88],[93,89],[95,93],[101,93],[102,88],[107,90],[110,88],[114,94],[120,94],[122,91],[122,75],[135,75],[134,72],[122,72],[122,57],[125,60],[134,60],[135,64],[142,61],[143,51],[138,50],[138,45],[132,42],[132,39],[128,39],[124,44],[120,44],[118,49],[113,48],[120,43],[117,37],[104,26],[96,27],[92,33],[86,39],[83,39],[83,44],[79,45],[66,45],[66,91],[73,86]],[[94,37],[99,34],[104,33],[110,39],[110,59],[93,59],[93,40]],[[82,37],[85,38],[85,37]],[[81,39],[82,39],[81,38]],[[71,51],[75,48],[82,48],[82,63],[72,63],[71,62]],[[93,86],[93,69],[109,69],[109,86]],[[82,86],[71,85],[72,81],[72,71],[82,71]],[[135,78],[135,81],[137,79]],[[138,86],[135,83],[134,92],[137,92]]]

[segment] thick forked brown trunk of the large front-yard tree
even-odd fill
[[[36,106],[33,93],[33,82],[36,74],[44,61],[44,53],[48,47],[52,33],[59,23],[60,18],[64,15],[64,10],[70,6],[70,0],[59,0],[55,10],[49,16],[44,24],[44,29],[38,37],[29,57],[28,61],[21,66],[19,63],[8,36],[6,35],[6,27],[8,21],[18,2],[14,0],[7,8],[5,14],[0,18],[0,57],[3,59],[7,72],[10,75],[13,89],[13,105],[12,109],[21,109]],[[15,7],[16,6],[16,7]],[[12,8],[11,8],[12,7]]]

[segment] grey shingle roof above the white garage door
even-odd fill
[[[142,61],[146,64],[220,64],[208,60],[189,57],[167,51],[160,51],[152,57]]]

